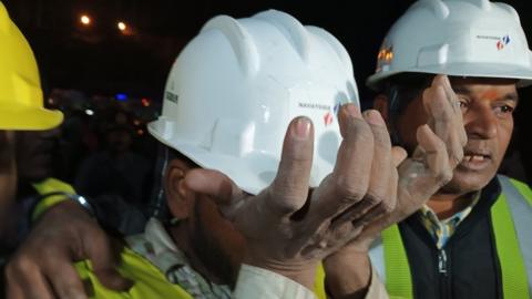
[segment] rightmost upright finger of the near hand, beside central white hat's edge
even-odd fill
[[[396,198],[389,194],[392,184],[392,174],[396,171],[391,157],[390,134],[385,120],[375,110],[364,113],[364,118],[369,124],[374,135],[374,158],[369,187],[364,200],[379,205],[382,212],[388,212],[396,206]]]

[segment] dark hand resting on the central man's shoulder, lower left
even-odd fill
[[[125,290],[131,282],[115,270],[120,248],[75,202],[50,207],[9,261],[8,298],[86,298],[73,262],[91,259],[108,288]],[[31,286],[30,288],[28,286]]]

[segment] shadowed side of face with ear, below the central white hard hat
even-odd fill
[[[165,194],[173,217],[181,219],[172,228],[174,239],[195,256],[207,279],[218,285],[234,286],[245,254],[244,236],[222,216],[212,198],[191,190],[186,174],[197,168],[193,162],[174,158],[167,166]],[[198,265],[196,265],[198,266]],[[193,265],[194,267],[194,265]],[[201,268],[196,269],[202,271]]]

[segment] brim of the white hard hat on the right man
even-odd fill
[[[518,80],[518,87],[525,87],[532,84],[531,68],[498,63],[450,63],[444,65],[427,65],[422,68],[410,68],[400,71],[379,72],[369,76],[366,81],[366,85],[374,91],[382,91],[383,82],[387,79],[400,73],[427,73],[446,74],[451,76],[515,79]]]

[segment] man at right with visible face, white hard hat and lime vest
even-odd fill
[[[436,93],[426,90],[438,82]],[[360,256],[369,251],[390,296],[532,298],[532,192],[497,175],[518,89],[531,82],[532,54],[505,3],[420,0],[388,32],[367,83],[381,92],[375,106],[396,143],[413,151],[423,105],[437,94],[458,99],[468,135],[452,181],[370,247],[357,248]],[[368,274],[358,280],[371,289]]]

